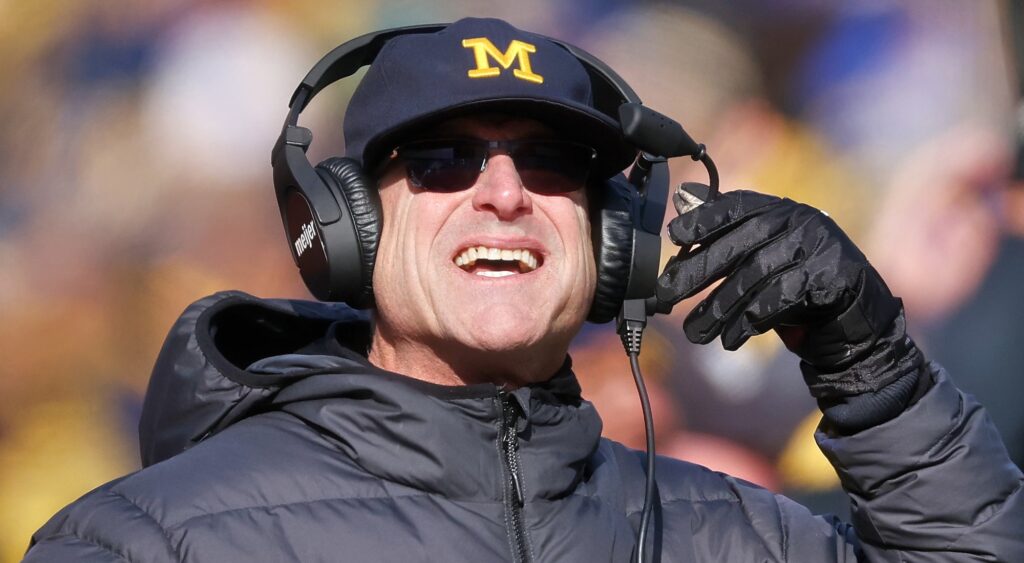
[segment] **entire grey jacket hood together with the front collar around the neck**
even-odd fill
[[[139,423],[143,466],[280,410],[379,477],[458,496],[500,495],[495,452],[502,401],[513,400],[520,456],[531,468],[527,494],[551,497],[582,478],[601,423],[568,359],[549,381],[514,391],[450,387],[372,365],[369,341],[366,315],[342,305],[241,292],[194,303],[171,329],[150,382]]]

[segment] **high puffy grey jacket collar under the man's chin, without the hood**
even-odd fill
[[[508,422],[503,400],[515,403],[527,502],[572,490],[601,434],[568,359],[548,381],[514,391],[426,383],[377,369],[344,348],[335,355],[278,360],[271,372],[298,360],[299,369],[318,373],[283,389],[275,408],[317,428],[365,471],[449,497],[502,499],[507,468],[501,433]]]

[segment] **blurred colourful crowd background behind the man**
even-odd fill
[[[150,370],[188,303],[222,289],[308,298],[269,166],[306,71],[356,35],[463,15],[584,47],[706,142],[723,186],[828,211],[1024,464],[1019,11],[997,0],[0,0],[0,561],[138,467]],[[313,162],[342,154],[356,82],[303,115]],[[689,160],[673,175],[703,179]],[[845,513],[795,357],[773,334],[737,352],[690,345],[681,322],[694,302],[645,338],[659,452]],[[588,326],[572,356],[605,434],[642,447],[612,328]]]

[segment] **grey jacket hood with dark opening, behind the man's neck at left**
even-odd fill
[[[352,340],[347,344],[366,350],[369,319],[341,305],[263,300],[233,291],[189,305],[171,327],[150,379],[139,420],[142,466],[180,453],[265,410],[282,388],[316,367],[298,363],[278,373],[247,367],[323,342],[334,322],[350,326],[345,333]]]

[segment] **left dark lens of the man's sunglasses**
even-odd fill
[[[459,191],[476,181],[486,148],[471,143],[419,144],[403,147],[409,180],[428,191]]]

